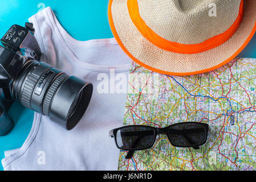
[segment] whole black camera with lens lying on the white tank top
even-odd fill
[[[13,128],[7,110],[14,100],[71,130],[82,118],[92,84],[40,62],[32,23],[11,26],[0,46],[0,135]]]

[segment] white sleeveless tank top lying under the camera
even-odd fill
[[[113,85],[115,71],[116,85],[127,84],[131,59],[121,51],[115,39],[75,40],[60,26],[50,7],[29,20],[34,23],[35,36],[43,53],[41,61],[92,82],[94,93],[83,118],[71,131],[35,113],[25,143],[21,148],[5,152],[3,168],[117,170],[119,150],[108,132],[123,124],[126,93],[113,89],[111,83]],[[107,93],[101,93],[97,86],[107,82],[109,88],[104,88]]]

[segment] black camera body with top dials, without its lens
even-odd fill
[[[41,56],[32,23],[25,27],[14,24],[0,41],[4,46],[0,46],[0,84],[15,78],[27,60],[39,60]]]

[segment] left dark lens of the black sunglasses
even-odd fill
[[[155,131],[151,127],[127,126],[116,133],[117,146],[123,150],[141,150],[151,147]]]

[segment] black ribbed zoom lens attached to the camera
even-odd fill
[[[14,99],[73,129],[86,111],[92,84],[36,60],[28,61],[11,84]]]

